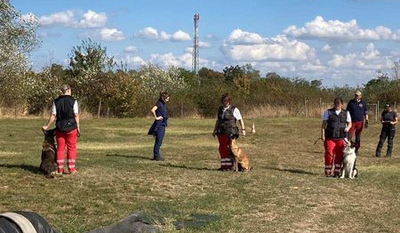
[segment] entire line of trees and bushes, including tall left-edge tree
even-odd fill
[[[368,102],[400,100],[397,75],[380,74],[361,87],[324,87],[318,79],[290,78],[275,72],[261,76],[250,64],[231,65],[222,71],[203,67],[198,74],[153,64],[128,69],[91,39],[71,49],[68,67],[51,64],[33,71],[28,57],[40,45],[35,35],[37,21],[22,19],[9,0],[0,2],[0,16],[0,107],[14,109],[16,115],[22,109],[26,114],[46,113],[62,84],[72,87],[83,111],[97,117],[146,116],[160,91],[171,93],[168,109],[174,117],[215,116],[220,96],[226,92],[244,111],[271,106],[283,107],[293,115],[305,101],[330,103],[336,96],[347,101],[356,89],[363,91]],[[398,67],[398,63],[394,65]]]

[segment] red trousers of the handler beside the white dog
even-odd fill
[[[343,161],[343,139],[326,139],[325,143],[325,175],[332,175],[332,167],[335,166],[334,174],[339,175]]]

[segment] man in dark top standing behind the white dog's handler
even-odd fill
[[[355,137],[356,154],[361,146],[361,132],[365,127],[368,127],[368,108],[367,103],[361,99],[361,92],[356,91],[354,99],[347,104],[346,110],[350,112],[351,129],[349,131],[349,141]],[[365,122],[364,122],[365,120]],[[355,165],[354,165],[355,167]]]

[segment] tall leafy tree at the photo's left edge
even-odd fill
[[[9,0],[0,1],[0,100],[15,108],[26,97],[29,53],[39,45],[37,20],[23,18]]]

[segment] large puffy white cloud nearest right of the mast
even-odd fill
[[[228,40],[224,41],[221,51],[230,60],[248,62],[300,61],[315,56],[310,46],[297,40],[288,40],[284,35],[264,39],[258,34],[239,29],[234,30]]]

